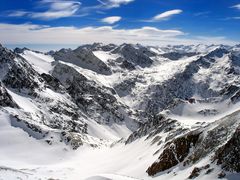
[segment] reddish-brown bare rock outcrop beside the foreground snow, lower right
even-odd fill
[[[190,152],[190,148],[195,146],[199,139],[199,132],[189,133],[183,137],[179,137],[165,145],[165,149],[148,169],[147,173],[153,176],[159,172],[168,170],[178,163],[183,162]]]

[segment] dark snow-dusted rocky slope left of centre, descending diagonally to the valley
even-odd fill
[[[65,64],[57,64],[52,74],[65,86],[78,107],[98,123],[121,123],[128,119],[135,124],[127,115],[128,107],[117,101],[112,89],[99,86]]]

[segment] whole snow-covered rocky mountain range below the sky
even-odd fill
[[[2,179],[239,179],[239,45],[0,45]]]

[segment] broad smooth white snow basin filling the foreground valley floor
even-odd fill
[[[29,137],[21,129],[12,127],[8,115],[2,112],[0,144],[0,167],[11,167],[21,171],[22,174],[14,174],[18,176],[20,173],[21,176],[28,177],[24,179],[141,179],[141,176],[146,174],[144,170],[147,164],[154,159],[149,158],[149,155],[156,148],[149,148],[148,143],[144,141],[127,146],[120,144],[113,148],[108,146],[94,149],[83,146],[77,151],[61,144],[49,146]],[[142,162],[141,165],[139,162]],[[139,169],[143,170],[142,173],[139,173]],[[6,177],[6,174],[8,173],[0,170],[0,177]],[[8,176],[14,177],[12,173]]]

